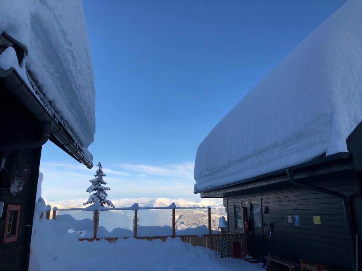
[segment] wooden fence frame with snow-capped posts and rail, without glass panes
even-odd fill
[[[165,210],[169,209],[172,210],[172,235],[167,236],[137,236],[137,218],[138,218],[138,210]],[[176,209],[207,209],[207,218],[208,218],[208,229],[209,234],[205,235],[176,235],[176,229],[175,229],[175,210]],[[219,209],[219,208],[212,208],[212,207],[177,207],[175,203],[172,203],[171,205],[167,207],[139,207],[138,203],[135,203],[131,207],[116,207],[116,208],[106,208],[106,207],[100,207],[97,205],[89,206],[86,208],[57,208],[54,207],[52,212],[52,219],[56,218],[57,211],[92,211],[93,212],[93,237],[92,238],[79,238],[79,241],[98,241],[101,239],[108,240],[110,242],[114,242],[118,240],[118,238],[129,238],[129,237],[97,237],[97,229],[98,229],[98,219],[99,219],[99,211],[113,211],[113,210],[131,210],[134,211],[134,223],[133,223],[133,229],[134,229],[134,238],[137,239],[146,239],[148,241],[160,239],[163,242],[167,240],[168,237],[180,237],[182,241],[189,243],[194,246],[202,246],[204,248],[210,248],[217,252],[220,250],[220,238],[218,234],[212,233],[211,228],[211,209]],[[51,210],[46,211],[46,217],[47,219],[50,219],[50,212]],[[42,214],[43,215],[43,214]],[[229,240],[229,252],[232,255],[233,254],[233,242],[241,242],[241,255],[245,257],[247,254],[247,242],[246,242],[246,235],[244,233],[235,236],[233,234],[223,234],[224,237],[227,237]]]

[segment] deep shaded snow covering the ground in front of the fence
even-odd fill
[[[215,251],[182,242],[180,238],[138,240],[120,238],[78,241],[65,221],[39,220],[45,210],[42,198],[36,203],[31,238],[30,271],[44,270],[243,270],[261,271],[261,263],[241,259],[220,259]]]

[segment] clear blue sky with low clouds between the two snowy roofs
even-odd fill
[[[83,1],[110,199],[199,198],[199,143],[345,0]],[[88,197],[88,170],[43,146],[42,195]]]

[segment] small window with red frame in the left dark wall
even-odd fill
[[[18,225],[20,216],[20,205],[8,204],[5,220],[5,231],[3,243],[14,242],[17,240]]]

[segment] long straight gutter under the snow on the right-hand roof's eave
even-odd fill
[[[331,162],[331,161],[348,158],[348,156],[349,156],[349,152],[338,152],[336,154],[332,154],[332,155],[324,156],[324,157],[321,157],[321,158],[317,158],[317,159],[314,159],[314,160],[309,161],[309,162],[294,165],[294,166],[291,167],[291,169],[293,169],[293,170],[303,169],[303,168],[311,167],[313,165],[320,165],[320,164],[328,163],[328,162]],[[232,187],[232,186],[237,186],[237,185],[240,185],[240,184],[244,184],[246,182],[253,182],[253,181],[258,181],[258,180],[262,180],[262,179],[265,179],[265,178],[270,178],[270,177],[273,177],[273,176],[285,174],[285,170],[286,170],[286,168],[283,168],[283,169],[279,169],[277,171],[265,173],[265,174],[258,175],[258,176],[252,177],[252,178],[247,178],[247,179],[244,179],[244,180],[241,180],[241,181],[230,182],[228,184],[219,185],[219,186],[210,187],[210,188],[204,188],[204,189],[201,189],[201,190],[195,190],[194,194],[211,192],[211,191],[220,190],[220,189],[223,189],[223,188],[229,188],[229,187]]]

